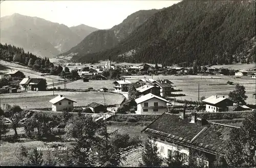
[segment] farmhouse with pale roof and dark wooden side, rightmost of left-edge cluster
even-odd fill
[[[19,83],[19,85],[22,91],[26,91],[26,90],[42,91],[46,89],[47,83],[46,83],[46,80],[42,78],[24,78]]]

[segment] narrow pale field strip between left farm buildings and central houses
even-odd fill
[[[89,82],[83,82],[83,80],[77,80],[74,82],[70,82],[67,83],[67,89],[88,89],[90,87],[92,87],[93,89],[97,90],[100,89],[102,87],[106,87],[108,89],[114,89],[114,84],[113,84],[114,80],[89,80]],[[64,84],[60,84],[60,85],[54,85],[54,87],[60,87],[60,88],[64,88]],[[50,86],[49,88],[52,88],[52,86]]]

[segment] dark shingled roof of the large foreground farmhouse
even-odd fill
[[[166,140],[195,148],[215,155],[225,154],[229,133],[234,126],[213,122],[198,126],[189,118],[163,113],[142,132],[162,137]]]

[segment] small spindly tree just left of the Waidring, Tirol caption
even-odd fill
[[[25,146],[21,145],[16,149],[15,160],[16,166],[23,166],[27,163],[28,150]]]

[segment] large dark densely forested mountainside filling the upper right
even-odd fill
[[[112,49],[72,61],[109,57],[183,66],[255,62],[255,1],[182,1],[157,12]]]

